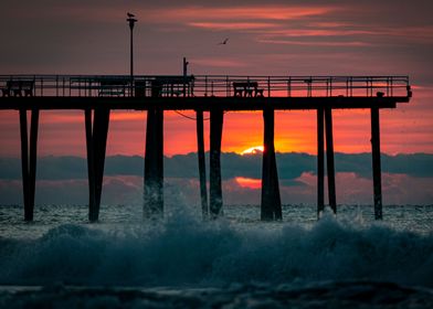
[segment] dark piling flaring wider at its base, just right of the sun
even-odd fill
[[[263,110],[264,120],[264,152],[262,166],[262,204],[261,220],[274,221],[282,220],[282,202],[279,195],[278,172],[275,159],[274,145],[274,109]]]

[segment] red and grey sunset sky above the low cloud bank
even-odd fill
[[[409,75],[412,100],[381,111],[381,151],[433,153],[432,11],[429,0],[2,0],[0,74],[128,74],[133,12],[136,74],[180,74],[186,56],[192,74]],[[2,158],[20,154],[18,117],[0,111]],[[275,122],[276,151],[316,153],[315,113]],[[165,154],[196,151],[194,128],[166,113]],[[337,152],[371,151],[369,110],[335,111],[334,130]],[[107,154],[144,156],[145,136],[146,113],[113,111]],[[43,111],[39,156],[85,157],[84,137],[82,111]],[[262,140],[260,113],[224,115],[222,151]]]

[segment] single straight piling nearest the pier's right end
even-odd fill
[[[380,124],[379,108],[371,108],[371,149],[374,191],[374,217],[382,220],[382,179],[380,163]]]

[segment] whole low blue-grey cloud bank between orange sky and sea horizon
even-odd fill
[[[258,204],[262,157],[222,154],[223,198],[226,204]],[[277,153],[283,203],[315,204],[316,157]],[[382,154],[386,204],[431,204],[433,154]],[[103,203],[142,203],[141,157],[115,156],[106,160]],[[336,153],[337,201],[371,204],[371,157],[369,153]],[[209,167],[208,167],[209,174]],[[168,203],[199,204],[196,153],[165,158],[165,194]],[[19,159],[0,159],[0,204],[21,204]],[[86,161],[78,157],[39,159],[36,204],[87,204]]]

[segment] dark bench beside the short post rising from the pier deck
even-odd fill
[[[190,76],[158,76],[150,81],[152,97],[193,96],[193,75]]]

